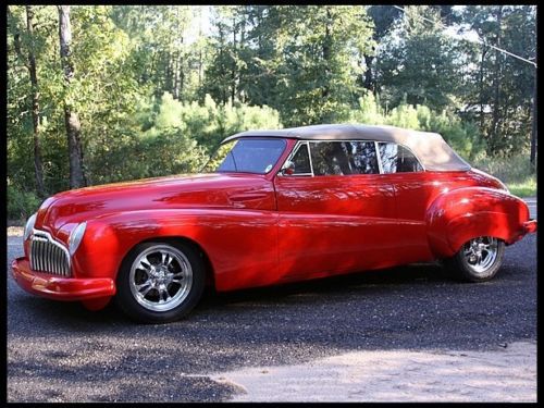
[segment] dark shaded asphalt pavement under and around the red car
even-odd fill
[[[535,215],[535,202],[532,205]],[[9,237],[8,262],[22,256]],[[141,325],[113,306],[26,294],[8,263],[9,401],[222,401],[209,374],[356,350],[487,350],[536,339],[536,234],[507,247],[491,282],[436,264],[215,294],[183,321]]]

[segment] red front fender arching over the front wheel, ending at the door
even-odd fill
[[[115,279],[137,244],[187,238],[206,252],[218,290],[275,276],[277,215],[247,209],[160,209],[109,213],[87,221],[73,265],[76,275]],[[258,257],[255,255],[259,254]],[[263,273],[267,271],[267,273]]]

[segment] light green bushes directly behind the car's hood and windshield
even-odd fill
[[[143,101],[134,122],[112,129],[110,141],[94,152],[89,165],[95,184],[198,172],[226,136],[280,127],[279,113],[268,107],[221,107],[210,96],[199,104],[164,92],[153,106]]]

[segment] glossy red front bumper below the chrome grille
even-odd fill
[[[61,277],[30,269],[28,258],[11,263],[15,282],[26,292],[55,300],[87,300],[115,295],[115,283],[109,277]]]

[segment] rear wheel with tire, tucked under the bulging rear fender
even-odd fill
[[[465,282],[485,282],[496,275],[503,263],[505,243],[491,236],[480,236],[466,243],[456,255],[445,259],[450,274]]]

